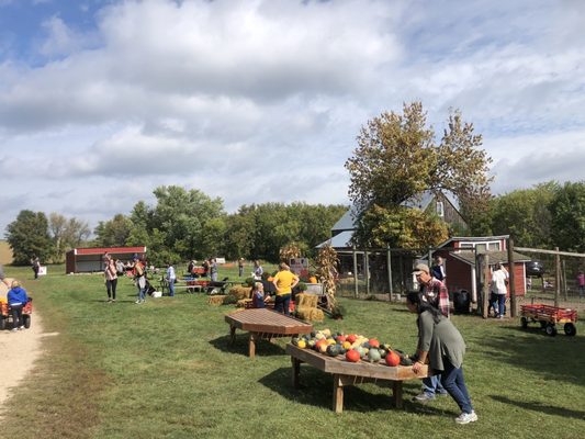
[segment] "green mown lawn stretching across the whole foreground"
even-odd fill
[[[254,360],[244,334],[228,344],[224,315],[232,306],[210,306],[202,294],[135,305],[127,279],[119,303],[108,304],[100,275],[48,271],[33,281],[27,267],[7,267],[30,290],[45,330],[59,336],[44,338],[46,354],[10,401],[2,438],[583,437],[581,322],[576,337],[561,331],[552,338],[536,327],[522,330],[517,320],[454,316],[468,342],[475,424],[455,425],[459,413],[449,397],[412,403],[419,382],[405,384],[404,409],[392,407],[385,386],[349,387],[345,410],[336,415],[330,375],[304,365],[302,389],[292,389],[285,339],[260,342]],[[415,350],[416,317],[403,305],[349,299],[342,305],[345,319],[316,327]]]

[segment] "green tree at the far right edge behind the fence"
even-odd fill
[[[554,244],[562,250],[585,252],[585,180],[559,188],[550,212]]]

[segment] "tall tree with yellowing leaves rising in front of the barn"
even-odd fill
[[[397,209],[426,190],[451,192],[468,201],[469,212],[485,212],[492,159],[480,148],[482,136],[474,134],[473,124],[462,121],[459,111],[450,112],[448,128],[439,145],[435,143],[432,128],[427,127],[427,114],[420,102],[405,103],[403,114],[384,112],[369,121],[357,140],[353,156],[346,161],[350,173],[349,198],[361,215],[376,206],[367,223],[358,222],[359,227],[370,224],[381,233],[389,226],[394,229],[391,224],[383,224],[386,219],[398,221],[402,226],[416,226],[407,230],[409,235],[442,236],[442,232],[435,230],[435,222],[420,222],[407,210]],[[374,218],[385,219],[374,224]],[[420,228],[424,225],[430,228]],[[368,230],[362,230],[358,237],[360,235],[367,236]],[[375,239],[384,240],[384,237]],[[421,236],[407,239],[423,240]]]

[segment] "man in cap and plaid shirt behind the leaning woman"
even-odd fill
[[[427,264],[419,263],[416,266],[414,273],[420,285],[419,293],[425,302],[439,309],[439,312],[449,318],[449,291],[440,280],[431,275]],[[441,384],[440,375],[431,375],[423,379],[421,392],[415,396],[419,403],[428,403],[435,397],[447,396],[447,391]]]

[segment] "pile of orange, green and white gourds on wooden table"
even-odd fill
[[[392,349],[390,345],[358,334],[331,334],[329,329],[322,329],[311,335],[293,337],[291,342],[300,349],[313,349],[324,356],[353,363],[365,361],[390,367],[413,363],[408,356],[397,349]]]

